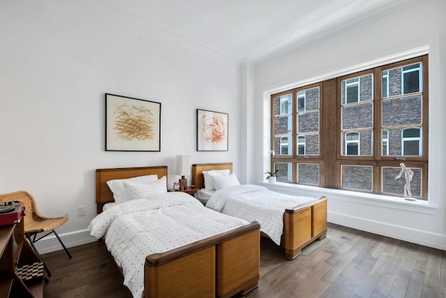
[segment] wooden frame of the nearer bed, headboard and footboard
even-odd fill
[[[96,170],[98,214],[114,202],[107,181],[167,176],[167,166]],[[203,207],[204,208],[204,207]],[[165,253],[146,256],[145,297],[231,297],[256,288],[260,278],[260,225],[253,222]]]

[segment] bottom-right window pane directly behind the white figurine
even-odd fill
[[[410,181],[410,184],[408,184],[410,193],[412,193],[413,197],[420,198],[422,196],[422,169],[410,167],[410,170],[412,170],[413,172],[412,180]],[[383,167],[381,172],[383,177],[383,193],[389,193],[392,195],[404,195],[404,187],[406,185],[405,174],[402,174],[399,179],[395,179],[399,175],[399,172],[401,172],[401,167]]]

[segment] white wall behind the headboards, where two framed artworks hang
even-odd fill
[[[0,193],[68,214],[68,246],[89,241],[97,168],[167,165],[171,185],[176,154],[238,162],[238,64],[129,20],[82,1],[0,2]],[[160,152],[105,151],[105,93],[161,103]],[[196,151],[197,108],[229,113],[229,151]]]

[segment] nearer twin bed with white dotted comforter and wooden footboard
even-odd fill
[[[167,167],[96,170],[99,215],[89,230],[98,239],[105,237],[132,295],[231,297],[255,288],[260,276],[258,223],[219,214],[185,193],[167,193],[165,181],[165,192],[114,203],[107,181],[153,174],[167,177]],[[159,182],[154,183],[159,190]],[[144,193],[138,184],[125,185]],[[102,213],[109,203],[115,205]],[[132,225],[116,223],[123,217]]]

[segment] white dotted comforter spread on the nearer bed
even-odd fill
[[[116,204],[91,221],[91,235],[105,244],[123,269],[133,297],[144,294],[147,255],[162,253],[248,222],[203,207],[186,193],[165,193]]]

